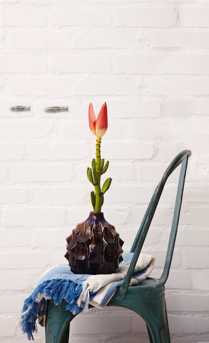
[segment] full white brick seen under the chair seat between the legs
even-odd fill
[[[131,320],[127,316],[97,316],[96,321],[95,317],[92,316],[83,316],[74,318],[71,324],[70,331],[72,334],[76,334],[77,325],[79,322],[79,333],[123,333],[131,330]],[[92,325],[92,322],[95,325]],[[118,323],[120,322],[120,325]]]

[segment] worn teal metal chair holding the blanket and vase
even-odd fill
[[[122,286],[116,289],[114,296],[107,304],[107,306],[126,307],[139,314],[139,316],[141,316],[146,322],[151,343],[170,343],[167,310],[164,297],[164,284],[168,279],[171,266],[176,233],[179,224],[187,162],[190,155],[191,152],[189,150],[182,151],[173,159],[169,167],[166,169],[152,196],[142,224],[139,227],[138,233],[131,248],[131,252],[134,252],[134,255],[126,278]],[[165,182],[174,169],[180,164],[182,165],[163,273],[159,279],[148,277],[139,285],[129,287],[136,262],[138,260],[140,251],[142,250],[142,246],[144,244],[153,215],[155,214],[155,210],[160,200]],[[59,306],[54,305],[52,302],[49,303],[46,324],[46,343],[68,342],[70,322],[76,315],[73,315],[70,311],[66,311],[65,306],[65,301],[62,301]]]

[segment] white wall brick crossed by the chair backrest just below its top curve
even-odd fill
[[[168,164],[146,164],[137,168],[137,175],[140,182],[159,182],[167,169]],[[176,168],[168,181],[178,181],[179,170]]]

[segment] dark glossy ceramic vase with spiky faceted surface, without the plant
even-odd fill
[[[66,238],[66,259],[75,274],[111,274],[123,261],[123,241],[102,212],[90,212]]]

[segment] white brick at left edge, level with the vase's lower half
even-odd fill
[[[49,254],[47,252],[18,252],[14,260],[13,254],[0,254],[1,268],[41,268],[46,267],[49,262]]]

